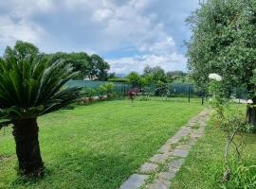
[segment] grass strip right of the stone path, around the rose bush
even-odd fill
[[[238,105],[236,105],[238,106]],[[239,109],[245,109],[245,106],[238,106]],[[226,138],[224,132],[216,128],[214,118],[211,118],[204,137],[198,140],[192,151],[172,180],[174,189],[215,189],[223,184],[222,176],[225,171],[224,164],[224,146]],[[246,148],[243,152],[242,162],[246,165],[256,164],[256,135],[247,134],[245,137]],[[233,153],[233,152],[231,152]],[[233,162],[234,163],[234,162]],[[233,165],[236,171],[238,165]],[[254,169],[255,170],[255,169]],[[250,175],[250,179],[254,176]],[[238,187],[233,185],[234,178],[231,177],[227,189],[244,188],[242,184]],[[247,189],[254,189],[248,187]]]

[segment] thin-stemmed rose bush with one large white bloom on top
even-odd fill
[[[224,158],[227,169],[224,172],[223,180],[229,181],[231,177],[235,176],[235,173],[237,174],[233,171],[230,163],[230,148],[234,147],[236,163],[239,163],[244,149],[243,136],[251,129],[251,126],[247,124],[243,112],[232,110],[229,106],[230,102],[225,97],[225,87],[221,82],[222,77],[217,74],[210,74],[209,78],[211,79],[209,87],[210,94],[212,94],[211,105],[217,115],[217,126],[223,129],[226,134]]]

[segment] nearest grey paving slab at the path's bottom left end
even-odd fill
[[[121,184],[120,189],[137,189],[142,186],[148,177],[148,175],[134,174]]]

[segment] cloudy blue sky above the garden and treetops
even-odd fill
[[[0,53],[16,40],[41,51],[97,53],[111,71],[186,70],[185,19],[198,0],[2,0]]]

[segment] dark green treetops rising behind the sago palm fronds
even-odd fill
[[[45,54],[41,53],[32,43],[17,41],[13,48],[7,46],[3,56],[4,59],[15,58],[16,60],[35,57],[46,57],[52,63],[56,60],[64,60],[65,64],[72,65],[74,72],[80,72],[76,78],[83,79],[87,77],[88,79],[107,80],[109,77],[110,65],[96,54],[91,56],[85,52]]]

